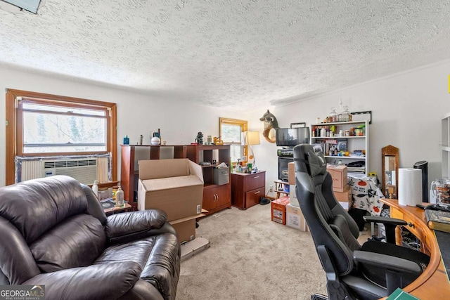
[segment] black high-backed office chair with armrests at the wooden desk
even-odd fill
[[[311,299],[380,299],[425,270],[430,256],[391,243],[395,227],[405,221],[366,216],[366,221],[385,224],[387,242],[360,245],[356,222],[333,195],[323,154],[309,144],[297,145],[294,162],[297,198],[327,278],[328,298],[315,294]]]

